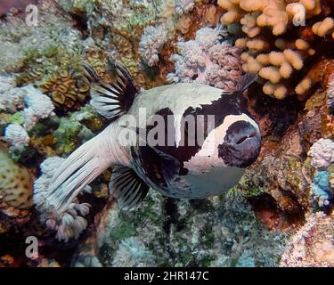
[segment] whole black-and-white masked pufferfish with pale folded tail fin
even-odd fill
[[[53,175],[44,205],[53,208],[58,216],[66,213],[77,194],[109,167],[110,194],[118,199],[119,208],[133,210],[150,188],[178,199],[218,195],[238,183],[245,167],[257,159],[260,130],[248,114],[242,96],[257,76],[241,77],[232,92],[195,83],[163,85],[139,92],[129,72],[118,62],[116,80],[110,85],[103,83],[86,63],[85,71],[91,83],[91,105],[111,122],[102,133],[74,151]],[[146,119],[139,118],[141,108]],[[126,115],[135,118],[135,124],[131,125]],[[165,120],[162,131],[166,140],[172,135],[173,143],[139,143],[155,127],[151,121],[154,115]],[[214,116],[211,129],[205,124],[208,119],[204,123],[196,121],[197,126],[204,128],[202,142],[187,141],[190,131],[184,118],[189,115]],[[133,143],[121,142],[121,132],[125,130],[135,134]]]

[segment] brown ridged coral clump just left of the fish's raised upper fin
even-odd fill
[[[63,110],[79,109],[88,99],[90,89],[83,77],[68,70],[53,72],[38,87]]]

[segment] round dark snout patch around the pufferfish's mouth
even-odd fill
[[[218,156],[231,167],[248,167],[259,154],[261,137],[246,121],[233,123],[227,129],[224,142],[218,145]]]

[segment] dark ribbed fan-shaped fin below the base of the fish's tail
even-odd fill
[[[134,172],[134,169],[115,166],[110,179],[110,194],[118,199],[118,207],[132,211],[142,203],[149,186]]]

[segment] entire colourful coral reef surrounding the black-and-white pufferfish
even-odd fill
[[[108,126],[83,62],[112,83],[115,60],[144,89],[233,90],[258,73],[245,97],[261,152],[226,194],[149,191],[134,212],[109,195],[107,170],[78,197],[82,231],[59,240],[34,191]],[[333,0],[4,0],[0,266],[334,266],[333,116]]]

